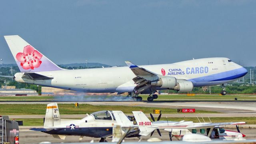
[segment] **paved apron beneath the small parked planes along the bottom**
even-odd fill
[[[227,128],[226,128],[227,129]],[[230,128],[227,130],[236,131],[235,128]],[[160,130],[162,134],[162,138],[158,135],[157,132],[154,132],[152,137],[160,138],[162,140],[170,140],[168,132],[164,130]],[[240,131],[246,135],[246,139],[255,139],[256,128],[240,128]],[[150,136],[142,137],[142,141],[146,141]],[[35,132],[35,131],[20,131],[20,144],[32,144],[32,143],[39,143],[39,142],[90,142],[94,140],[94,142],[98,142],[100,138],[90,138],[84,137],[82,141],[79,141],[79,136],[67,136],[66,140],[60,140],[57,138],[53,138],[49,134],[45,134],[43,132]],[[108,141],[111,141],[111,138],[107,138]],[[172,140],[176,140],[176,138],[172,138]],[[134,141],[137,142],[138,138],[126,138],[125,141]]]

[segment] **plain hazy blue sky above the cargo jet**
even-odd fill
[[[227,57],[256,66],[256,0],[1,0],[0,58],[12,64],[5,35],[56,64]]]

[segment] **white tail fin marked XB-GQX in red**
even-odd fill
[[[133,111],[132,113],[139,126],[140,135],[147,136],[156,129],[156,127],[153,127],[154,124],[152,124],[152,122],[146,117],[146,115],[143,112]]]

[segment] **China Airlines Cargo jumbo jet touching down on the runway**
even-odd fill
[[[148,101],[158,96],[157,90],[190,92],[194,87],[232,82],[247,73],[242,66],[228,58],[201,58],[176,62],[111,68],[66,70],[58,67],[20,36],[4,36],[20,72],[14,75],[17,82],[37,84],[66,90],[122,94],[128,92],[135,100],[139,94],[149,94]]]

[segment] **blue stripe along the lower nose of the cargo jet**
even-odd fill
[[[229,70],[226,72],[220,72],[218,74],[212,74],[209,76],[202,76],[199,78],[190,79],[191,82],[216,82],[216,81],[224,81],[224,80],[235,80],[237,78],[241,78],[242,76],[247,74],[247,70],[245,68],[238,68],[235,70]]]

